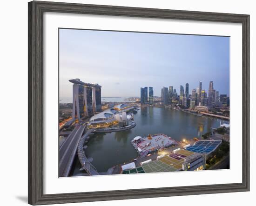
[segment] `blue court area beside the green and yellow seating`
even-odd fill
[[[186,150],[194,153],[211,153],[217,146],[222,143],[222,140],[205,140],[197,141],[194,145],[188,146]]]

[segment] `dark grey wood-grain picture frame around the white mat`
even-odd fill
[[[87,193],[43,193],[43,13],[82,13],[241,23],[243,182]],[[28,203],[31,205],[249,191],[249,15],[32,1],[28,3]]]

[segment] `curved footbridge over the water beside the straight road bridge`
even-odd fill
[[[88,129],[86,133],[80,138],[77,147],[78,158],[82,166],[81,169],[84,169],[89,175],[99,175],[96,168],[91,163],[92,158],[87,158],[84,153],[84,142],[89,139],[89,134],[94,132],[94,130],[95,129]]]

